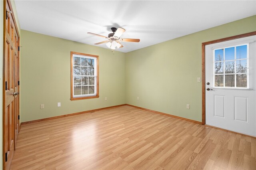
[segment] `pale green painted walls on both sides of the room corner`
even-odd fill
[[[125,103],[202,121],[202,83],[197,82],[202,42],[255,30],[252,16],[114,55],[109,49],[22,30],[21,122]],[[70,101],[70,51],[100,56],[100,98]]]

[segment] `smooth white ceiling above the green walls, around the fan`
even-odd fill
[[[75,42],[94,45],[122,27],[121,38],[139,38],[139,43],[122,42],[118,51],[129,52],[194,32],[256,15],[256,0],[214,1],[88,1],[15,0],[20,27]],[[107,48],[105,44],[97,45]]]

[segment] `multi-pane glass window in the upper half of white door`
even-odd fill
[[[248,88],[248,44],[214,49],[214,86]]]

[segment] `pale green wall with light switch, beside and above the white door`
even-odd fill
[[[201,122],[202,42],[253,31],[256,16],[126,53],[126,103]]]

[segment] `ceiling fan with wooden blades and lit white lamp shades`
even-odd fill
[[[124,28],[116,29],[115,27],[112,27],[111,31],[113,33],[108,34],[108,37],[91,32],[88,32],[88,34],[108,39],[103,42],[95,43],[95,45],[106,43],[107,47],[112,50],[124,47],[120,42],[140,42],[140,39],[120,38],[120,36],[125,32]]]

